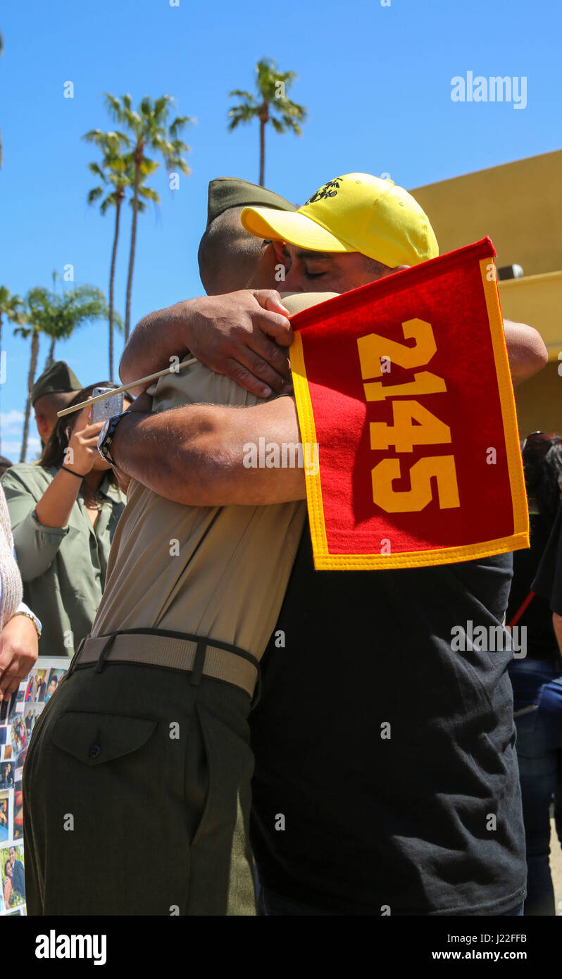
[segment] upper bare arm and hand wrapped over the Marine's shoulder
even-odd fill
[[[268,397],[271,391],[284,394],[291,375],[283,348],[293,340],[287,315],[273,289],[245,289],[175,303],[137,323],[123,350],[119,377],[129,384],[169,367],[171,357],[183,359],[189,351],[258,397]],[[143,390],[142,386],[133,389],[133,394]]]

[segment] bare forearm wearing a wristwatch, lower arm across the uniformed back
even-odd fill
[[[130,411],[117,425],[111,455],[132,479],[189,506],[304,499],[303,468],[249,465],[249,446],[258,450],[260,438],[279,445],[300,443],[292,397],[254,407],[190,404],[156,414]]]

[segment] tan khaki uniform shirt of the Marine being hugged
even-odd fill
[[[161,378],[149,394],[153,412],[260,400],[201,363]],[[304,500],[184,506],[131,481],[92,635],[172,629],[229,642],[259,658],[277,621],[305,512]]]

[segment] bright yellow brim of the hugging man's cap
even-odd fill
[[[290,212],[273,208],[245,208],[240,220],[251,235],[289,242],[311,252],[356,252],[357,249],[336,238],[316,221],[299,210]]]

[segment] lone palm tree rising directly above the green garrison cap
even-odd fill
[[[242,102],[233,106],[228,113],[228,128],[236,129],[240,122],[259,119],[259,186],[263,187],[265,174],[265,126],[268,122],[277,133],[291,129],[297,136],[302,135],[300,122],[306,119],[306,109],[287,98],[287,90],[297,78],[295,71],[279,71],[272,58],[261,58],[256,66],[256,96],[251,92],[235,88],[228,93]]]

